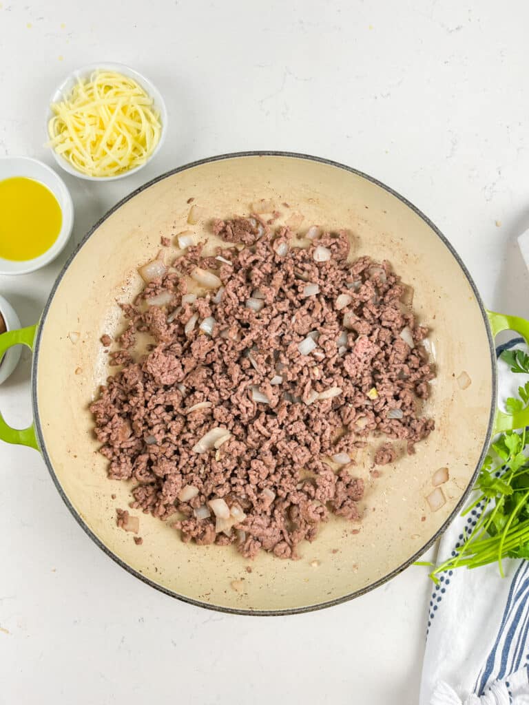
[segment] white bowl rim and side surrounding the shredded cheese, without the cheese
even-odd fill
[[[152,154],[145,161],[144,164],[140,164],[140,166],[136,166],[135,168],[129,169],[128,171],[123,171],[123,173],[116,174],[116,176],[88,176],[87,174],[83,174],[82,172],[74,168],[69,161],[64,159],[64,157],[61,157],[60,154],[57,154],[55,149],[51,149],[51,154],[54,155],[54,159],[57,164],[59,164],[59,166],[63,168],[64,171],[68,171],[69,174],[72,174],[72,176],[78,176],[79,178],[84,178],[87,181],[116,181],[119,178],[125,178],[126,176],[130,176],[130,174],[135,174],[137,171],[140,171],[140,169],[146,166],[146,164],[149,164],[151,159],[153,159],[158,154],[160,148],[162,147],[165,141],[165,135],[167,131],[167,109],[165,106],[164,99],[162,98],[162,94],[159,92],[157,87],[153,83],[151,83],[148,78],[145,78],[144,75],[142,75],[138,71],[134,71],[133,68],[125,66],[125,64],[123,63],[111,63],[107,61],[101,61],[100,63],[90,63],[88,66],[83,66],[82,68],[78,68],[76,71],[72,71],[72,73],[63,80],[61,85],[57,87],[56,91],[49,99],[49,106],[46,118],[47,142],[49,141],[48,123],[54,116],[54,114],[51,112],[51,104],[59,103],[61,102],[61,100],[68,97],[74,85],[77,83],[78,79],[88,78],[90,74],[92,74],[94,71],[116,71],[116,73],[122,73],[125,76],[129,76],[130,78],[133,78],[136,82],[138,82],[140,86],[145,90],[145,92],[147,92],[147,94],[150,95],[150,97],[153,99],[154,107],[159,112],[160,123],[162,123],[162,132],[160,133],[158,144],[156,145],[156,147],[154,147],[154,152],[152,152]]]

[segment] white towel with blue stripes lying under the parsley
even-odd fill
[[[516,338],[497,349],[527,346]],[[529,375],[512,374],[498,360],[499,404],[515,396]],[[478,505],[458,517],[439,544],[439,559],[455,556],[475,526]],[[420,705],[529,705],[529,561],[505,560],[441,575],[428,607]]]

